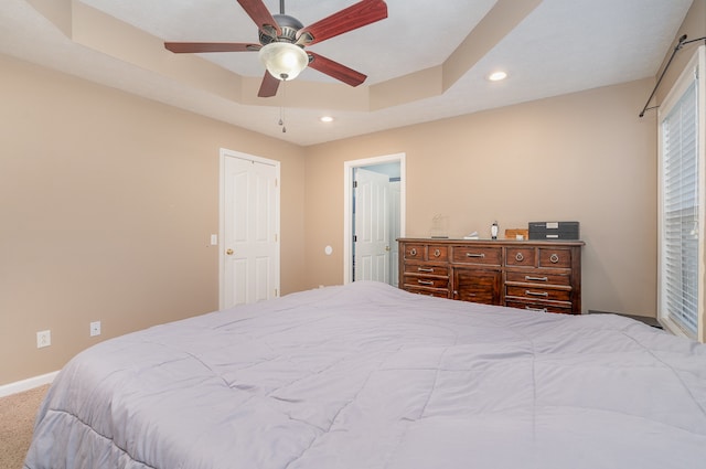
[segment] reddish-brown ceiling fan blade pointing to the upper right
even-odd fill
[[[385,18],[387,18],[387,4],[383,0],[363,0],[300,29],[297,32],[297,43],[315,44]]]

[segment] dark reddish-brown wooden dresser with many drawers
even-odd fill
[[[547,312],[581,313],[580,241],[399,239],[399,288]]]

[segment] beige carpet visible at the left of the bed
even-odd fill
[[[22,469],[49,384],[0,398],[0,468]]]

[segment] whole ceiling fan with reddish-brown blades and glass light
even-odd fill
[[[263,0],[237,0],[243,10],[257,24],[259,44],[233,42],[164,42],[174,53],[257,52],[267,67],[259,97],[277,94],[280,81],[290,81],[310,66],[351,86],[365,82],[367,76],[338,62],[304,51],[306,46],[362,28],[387,18],[383,0],[362,0],[313,24],[304,26],[299,20],[285,14],[285,0],[279,0],[279,14],[270,14]]]

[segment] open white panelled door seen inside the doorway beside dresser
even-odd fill
[[[389,177],[355,170],[355,280],[389,284]]]

